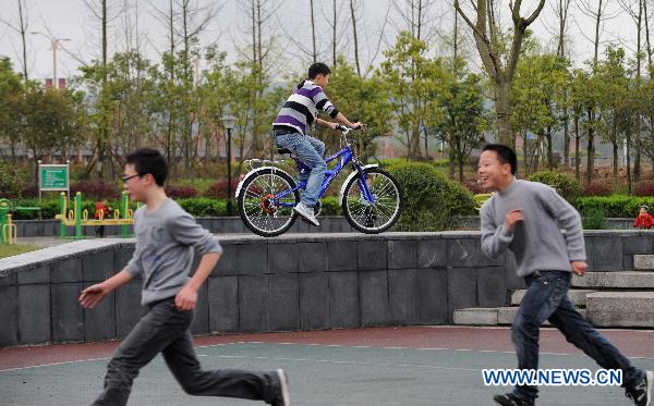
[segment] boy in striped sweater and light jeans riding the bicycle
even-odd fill
[[[337,123],[317,118],[318,110],[351,128],[363,126],[359,122],[351,123],[325,95],[324,89],[329,84],[330,73],[329,67],[322,62],[312,64],[308,67],[308,78],[298,85],[272,123],[272,136],[277,147],[293,151],[310,168],[308,174],[300,174],[301,180],[306,180],[306,189],[293,210],[316,226],[319,223],[314,216],[314,206],[318,200],[327,163],[323,159],[325,143],[308,136],[307,130],[314,122],[336,130]]]

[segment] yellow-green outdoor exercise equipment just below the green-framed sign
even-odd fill
[[[138,208],[138,206],[136,206]],[[134,224],[134,210],[130,208],[130,197],[123,192],[120,209],[113,209],[113,216],[105,219],[105,212],[100,211],[99,219],[88,219],[88,210],[82,210],[82,193],[77,192],[73,199],[73,208],[69,210],[69,199],[65,193],[59,195],[60,212],[55,219],[60,221],[60,237],[65,238],[65,227],[75,227],[75,238],[82,238],[83,225],[121,225],[121,236],[126,237],[130,233],[130,224]]]

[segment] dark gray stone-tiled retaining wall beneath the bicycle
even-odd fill
[[[653,233],[586,232],[595,271],[632,269]],[[505,306],[523,287],[510,255],[496,260],[479,232],[226,237],[199,295],[195,334],[448,324],[458,308]],[[143,313],[140,281],[96,309],[85,286],[122,269],[133,239],[89,239],[0,259],[0,347],[123,337]]]

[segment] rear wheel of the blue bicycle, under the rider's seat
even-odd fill
[[[293,207],[300,201],[300,194],[291,192],[294,187],[295,182],[283,171],[259,171],[245,181],[239,193],[241,220],[257,235],[283,234],[298,217]],[[284,196],[279,197],[282,194]]]

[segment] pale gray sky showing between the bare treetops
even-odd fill
[[[99,0],[23,0],[27,5],[28,30],[41,34],[32,34],[27,38],[27,67],[31,78],[45,79],[52,76],[52,50],[49,38],[62,38],[63,50],[57,53],[58,77],[71,77],[78,74],[78,66],[82,63],[89,63],[99,56],[99,22],[90,12],[89,4],[96,5]],[[175,0],[179,1],[179,0]],[[278,74],[288,73],[283,70],[293,71],[303,65],[303,60],[307,57],[298,49],[296,42],[310,44],[310,30],[303,20],[308,19],[307,0],[263,0],[276,11],[269,20],[269,32],[276,35],[278,53]],[[351,30],[346,19],[349,10],[344,7],[348,2],[337,0],[342,3],[342,33],[340,34],[339,47],[344,53],[351,54],[352,41]],[[389,0],[358,0],[361,5],[359,13],[362,16],[364,38],[363,59],[365,63],[377,56],[375,61],[379,61],[380,53],[376,52],[378,45],[380,50],[390,44],[392,38],[401,26],[398,9],[390,5]],[[424,0],[425,1],[425,0]],[[432,1],[431,17],[433,22],[433,36],[431,41],[439,42],[438,34],[451,29],[451,0],[426,0]],[[508,16],[508,0],[500,1],[502,15]],[[594,3],[595,0],[577,0]],[[628,54],[632,56],[635,49],[635,28],[631,16],[621,12],[618,0],[609,1],[609,14],[613,19],[606,21],[603,27],[602,38],[604,42],[617,42],[627,48]],[[633,2],[635,0],[619,0],[622,2]],[[247,34],[245,29],[249,21],[242,2],[249,3],[249,0],[222,0],[221,2],[213,0],[195,0],[201,4],[218,3],[216,17],[202,35],[203,45],[216,44],[219,49],[228,52],[232,60],[238,57],[237,49],[246,44]],[[396,3],[400,3],[396,0]],[[523,12],[534,9],[536,0],[523,1]],[[554,27],[553,7],[558,1],[547,0],[547,4],[536,23],[533,25],[534,33],[543,44],[552,45]],[[159,56],[166,49],[166,28],[164,23],[158,20],[156,9],[166,10],[169,0],[109,0],[109,14],[112,16],[110,23],[110,53],[125,48],[124,29],[125,14],[119,12],[124,4],[131,7],[132,12],[129,15],[131,23],[137,21],[138,29],[142,33],[142,49],[152,61],[158,61]],[[134,4],[138,4],[135,7]],[[316,11],[316,21],[318,22],[318,37],[325,38],[329,33],[329,27],[325,23],[326,13],[330,13],[331,1],[314,1]],[[20,36],[10,25],[17,26],[19,12],[17,0],[0,0],[0,56],[7,56],[12,59],[14,69],[21,70],[21,41]],[[320,8],[325,8],[324,11]],[[654,9],[654,4],[653,4]],[[384,25],[386,16],[390,15],[390,23]],[[135,16],[138,16],[137,19]],[[508,20],[506,20],[508,22]],[[9,24],[8,24],[9,23]],[[385,40],[379,41],[380,33],[384,33]],[[573,62],[581,64],[584,60],[592,58],[592,37],[594,26],[592,20],[584,15],[579,7],[572,8],[571,21],[569,27],[570,46],[573,49]],[[49,38],[48,38],[49,37]],[[292,37],[293,40],[288,38]],[[322,48],[327,62],[330,57],[327,52],[327,41],[324,40]],[[443,46],[440,46],[443,51]],[[472,49],[474,53],[474,49]],[[474,56],[473,56],[474,57]],[[476,62],[479,63],[479,62]]]

